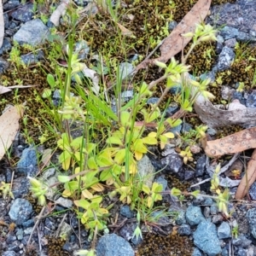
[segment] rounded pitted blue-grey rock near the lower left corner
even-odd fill
[[[9,218],[11,218],[15,224],[21,225],[24,221],[30,218],[32,211],[32,204],[29,201],[17,198],[10,207]]]

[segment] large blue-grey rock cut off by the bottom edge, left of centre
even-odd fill
[[[97,256],[134,256],[128,241],[115,234],[102,236],[96,245]]]

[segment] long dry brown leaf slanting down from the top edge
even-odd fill
[[[145,60],[140,63],[136,70],[145,68],[148,63],[154,61],[166,62],[174,55],[177,55],[191,40],[191,38],[183,38],[181,35],[188,32],[195,32],[195,26],[205,20],[211,6],[211,0],[199,0],[187,15],[184,16],[171,34],[164,40],[160,46],[161,55],[154,60]]]

